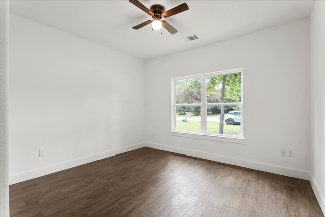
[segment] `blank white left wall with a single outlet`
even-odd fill
[[[144,146],[144,61],[12,14],[9,47],[11,184]]]

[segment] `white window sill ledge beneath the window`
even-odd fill
[[[188,138],[193,138],[193,139],[213,140],[213,141],[219,141],[219,142],[229,142],[229,143],[242,144],[242,145],[245,144],[244,138],[237,138],[237,137],[214,136],[214,135],[207,135],[207,134],[175,132],[175,131],[171,131],[171,136],[188,137]]]

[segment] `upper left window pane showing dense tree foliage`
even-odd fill
[[[201,103],[201,78],[175,81],[176,103]]]

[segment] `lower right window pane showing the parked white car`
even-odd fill
[[[240,106],[207,106],[207,133],[240,136],[240,123]]]

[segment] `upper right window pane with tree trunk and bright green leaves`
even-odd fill
[[[240,72],[207,76],[207,103],[241,102],[240,98]]]

